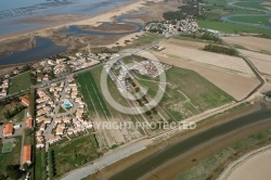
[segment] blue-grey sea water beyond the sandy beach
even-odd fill
[[[20,23],[43,15],[93,15],[117,8],[131,0],[0,0],[0,35],[30,30],[42,24]]]

